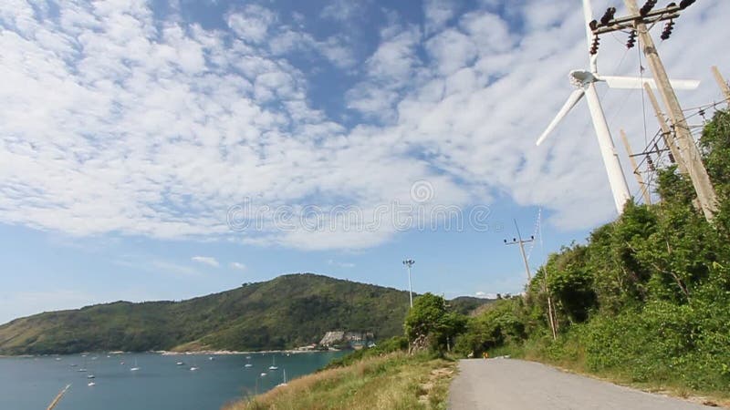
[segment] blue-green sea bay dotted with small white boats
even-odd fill
[[[54,410],[217,410],[283,383],[285,371],[291,380],[315,372],[341,354],[0,357],[0,409],[46,409],[71,384]],[[269,370],[275,362],[278,369]],[[131,371],[133,367],[139,370]]]

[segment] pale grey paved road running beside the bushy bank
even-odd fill
[[[462,360],[459,372],[449,392],[449,408],[452,410],[712,408],[650,395],[521,360]]]

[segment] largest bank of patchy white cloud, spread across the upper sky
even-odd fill
[[[361,248],[397,229],[349,231],[334,218],[332,231],[282,231],[273,210],[296,214],[314,202],[367,215],[411,203],[412,183],[425,179],[438,181],[439,203],[505,195],[543,205],[559,228],[594,226],[615,211],[585,105],[534,146],[572,90],[568,70],[588,59],[580,10],[541,15],[541,4],[519,2],[509,19],[491,6],[429,12],[427,38],[391,15],[345,96],[378,121],[346,128],[314,108],[311,67],[287,53],[308,50],[349,69],[357,62],[349,39],[281,26],[262,6],[226,15],[228,33],[176,15],[155,20],[144,2],[63,3],[57,14],[2,2],[0,221],[74,235]],[[719,95],[708,67],[730,67],[730,55],[717,52],[728,15],[728,2],[693,5],[659,44],[672,77],[704,81],[680,94],[685,107]],[[697,42],[701,27],[715,35]],[[600,69],[635,75],[637,54],[624,55],[616,38],[602,42]],[[614,134],[625,128],[641,147],[641,93],[600,93]],[[228,209],[245,200],[272,211],[262,230],[233,233]]]

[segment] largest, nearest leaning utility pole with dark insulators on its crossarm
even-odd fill
[[[714,213],[717,211],[717,194],[710,181],[710,176],[707,174],[707,169],[704,169],[700,151],[694,145],[694,138],[687,126],[687,120],[684,118],[679,99],[674,94],[674,89],[669,82],[669,77],[662,64],[662,59],[659,57],[652,36],[649,34],[649,29],[647,28],[647,23],[653,25],[659,21],[669,20],[662,33],[662,39],[668,39],[672,35],[674,26],[673,19],[678,18],[680,12],[692,5],[695,0],[682,0],[679,5],[671,3],[667,7],[658,10],[652,10],[653,6],[656,5],[656,0],[647,0],[641,7],[641,10],[636,5],[636,0],[623,1],[631,15],[613,18],[613,13],[615,13],[616,9],[611,7],[607,10],[604,18],[601,18],[600,24],[595,20],[591,22],[589,25],[590,29],[596,38],[600,34],[627,28],[632,29],[632,36],[639,36],[643,54],[649,61],[649,67],[652,68],[654,81],[662,96],[669,117],[672,119],[674,133],[680,146],[682,158],[687,166],[689,177],[692,179],[694,191],[697,193],[697,199],[702,207],[704,218],[706,220],[713,220]]]

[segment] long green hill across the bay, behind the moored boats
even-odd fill
[[[479,304],[454,301],[454,310]],[[402,333],[408,292],[315,274],[183,302],[113,302],[40,313],[0,326],[0,354],[261,350],[316,343],[329,330]]]

